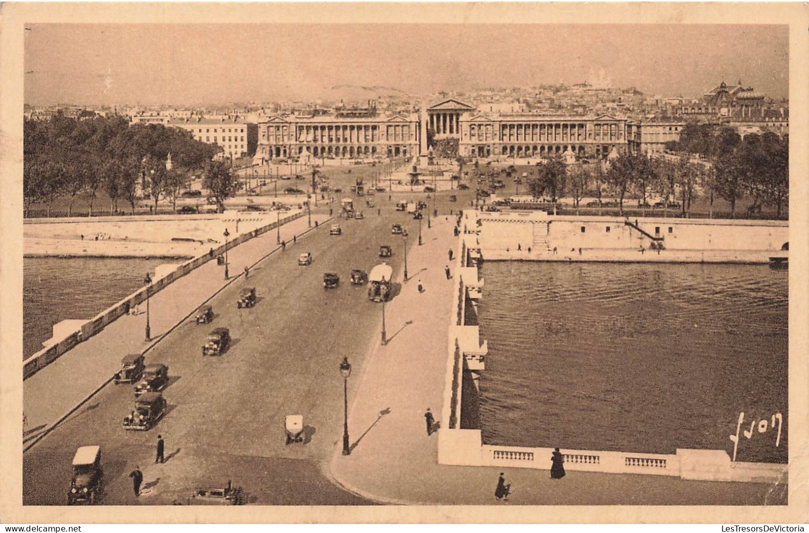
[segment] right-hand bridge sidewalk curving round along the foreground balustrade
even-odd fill
[[[337,442],[330,471],[338,483],[375,501],[420,505],[783,505],[787,484],[685,481],[667,476],[508,468],[510,501],[497,501],[498,467],[438,464],[438,434],[428,437],[424,412],[447,424],[442,412],[452,286],[444,274],[447,250],[459,253],[452,223],[438,218],[408,253],[411,280],[387,306],[390,342],[379,337],[360,375],[349,378],[351,455]],[[418,280],[426,291],[419,294]],[[496,355],[495,355],[496,357]],[[438,429],[440,432],[442,429]],[[550,457],[548,458],[550,468]],[[490,518],[489,518],[490,519]]]

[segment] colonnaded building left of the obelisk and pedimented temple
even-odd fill
[[[258,125],[256,159],[411,157],[420,138],[415,116],[273,116]]]

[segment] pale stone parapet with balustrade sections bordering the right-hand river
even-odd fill
[[[477,394],[470,395],[474,396],[472,399],[464,399],[464,380],[472,380],[474,387],[479,390],[478,381],[481,374],[485,373],[486,357],[489,355],[486,341],[479,338],[477,325],[467,325],[467,316],[464,313],[468,304],[474,308],[477,306],[477,299],[482,297],[484,281],[477,273],[477,261],[486,242],[483,229],[486,222],[478,226],[472,216],[464,214],[462,217],[461,232],[455,246],[455,252],[460,252],[455,256],[455,272],[458,275],[453,278],[453,312],[451,323],[448,324],[447,374],[443,395],[443,418],[447,425],[438,431],[438,463],[550,470],[553,448],[488,445],[483,442],[479,426],[475,427],[475,423],[464,424],[462,420],[464,412],[479,408],[468,404],[470,400],[477,401]],[[515,217],[513,224],[509,226],[517,226],[516,231],[525,235],[524,228],[532,227],[532,222],[525,222],[527,219],[528,217]],[[498,226],[505,226],[502,224],[504,221],[497,222]],[[581,224],[581,219],[576,218],[571,222]],[[605,223],[603,220],[599,222],[602,226]],[[758,235],[762,239],[770,239],[769,231],[760,230]],[[780,249],[780,244],[778,248]],[[563,442],[559,444],[564,446]],[[723,450],[678,448],[674,454],[645,454],[561,448],[561,452],[565,457],[566,471],[673,476],[687,480],[777,483],[786,480],[789,468],[781,463],[733,462]]]

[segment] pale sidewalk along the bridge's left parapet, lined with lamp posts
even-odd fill
[[[314,227],[315,221],[323,224],[329,217],[312,214],[311,218]],[[293,235],[302,235],[308,229],[307,217],[297,218],[281,226],[281,239],[286,240],[287,247],[290,247]],[[252,266],[279,249],[276,239],[277,231],[273,230],[230,248],[229,281],[224,279],[222,267],[211,260],[152,295],[149,299],[151,342],[144,340],[146,313],[125,315],[26,379],[23,382],[23,413],[27,425],[23,428],[23,448],[111,379],[120,368],[125,353],[142,353],[150,348],[202,302],[244,276],[245,266]],[[177,263],[181,262],[178,260]],[[145,310],[145,306],[141,307]]]

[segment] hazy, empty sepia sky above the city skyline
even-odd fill
[[[31,24],[27,104],[316,99],[592,81],[696,97],[724,79],[788,95],[788,27],[561,24]]]

